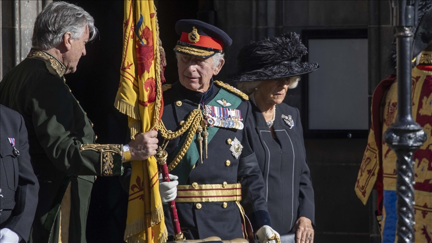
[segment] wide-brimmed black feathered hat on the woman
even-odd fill
[[[306,53],[300,35],[295,32],[250,42],[237,55],[237,72],[228,78],[233,82],[259,81],[297,76],[318,69],[317,63],[300,61]]]

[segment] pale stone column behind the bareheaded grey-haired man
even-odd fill
[[[31,48],[37,14],[52,0],[0,2],[0,78],[21,62]]]

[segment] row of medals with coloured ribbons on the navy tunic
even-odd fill
[[[208,126],[243,129],[244,124],[239,109],[204,105],[204,121]]]

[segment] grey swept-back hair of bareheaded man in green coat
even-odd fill
[[[89,41],[97,35],[93,17],[79,6],[64,1],[50,2],[37,15],[33,27],[31,44],[44,50],[59,45],[66,32],[72,39],[78,39],[88,26]]]

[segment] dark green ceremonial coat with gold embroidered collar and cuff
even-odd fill
[[[0,82],[0,103],[24,118],[40,185],[30,242],[58,242],[59,235],[85,242],[95,175],[122,173],[122,146],[94,144],[92,123],[65,84],[64,71],[55,57],[32,48]]]

